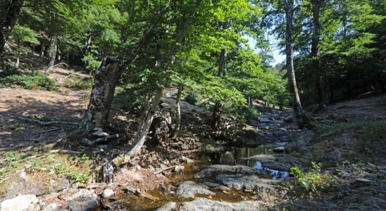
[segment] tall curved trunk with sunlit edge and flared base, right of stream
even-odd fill
[[[294,106],[294,119],[297,121],[297,124],[300,128],[302,127],[312,127],[312,121],[304,113],[303,108],[301,107],[301,102],[299,98],[299,91],[297,90],[297,82],[295,77],[294,70],[294,46],[292,44],[292,17],[293,17],[293,0],[283,0],[285,4],[285,54],[286,54],[286,63],[287,63],[287,76],[290,82],[290,92],[292,94],[293,106]]]

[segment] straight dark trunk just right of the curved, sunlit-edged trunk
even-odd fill
[[[320,5],[323,0],[312,0],[312,42],[311,42],[311,58],[314,75],[316,76],[316,102],[318,103],[318,110],[325,108],[325,96],[323,91],[323,70],[320,69],[319,56],[319,42],[320,42]]]

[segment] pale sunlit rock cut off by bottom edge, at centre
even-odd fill
[[[226,203],[207,198],[197,198],[191,202],[182,203],[180,211],[242,211],[266,210],[266,204],[261,201],[245,200],[240,203]]]

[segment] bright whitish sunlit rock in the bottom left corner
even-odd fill
[[[39,200],[35,195],[20,195],[0,203],[1,211],[32,211]]]

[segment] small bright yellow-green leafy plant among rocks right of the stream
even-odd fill
[[[318,193],[323,189],[335,184],[336,179],[331,174],[321,174],[320,163],[311,162],[313,170],[311,172],[304,172],[299,167],[291,167],[290,174],[296,179],[299,186],[304,188],[306,191],[312,193]]]

